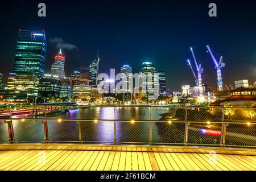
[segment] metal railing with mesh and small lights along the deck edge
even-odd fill
[[[0,142],[255,148],[255,115],[247,115],[246,110],[255,108],[91,106],[81,110],[88,119],[83,119],[84,115],[73,119],[49,118],[47,112],[44,118],[10,115],[0,120]]]

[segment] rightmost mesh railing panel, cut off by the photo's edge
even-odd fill
[[[226,127],[226,146],[256,146],[256,124],[229,123]]]

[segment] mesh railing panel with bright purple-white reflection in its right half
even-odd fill
[[[114,142],[114,122],[81,122],[84,142]]]

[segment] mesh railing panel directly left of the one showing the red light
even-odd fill
[[[185,123],[152,123],[152,143],[184,143]]]

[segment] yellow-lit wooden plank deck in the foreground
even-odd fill
[[[209,151],[215,151],[213,158]],[[0,145],[0,170],[256,170],[256,150],[203,147]]]

